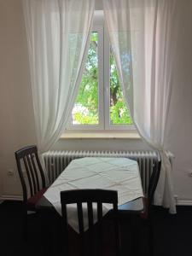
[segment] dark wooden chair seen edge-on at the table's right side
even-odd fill
[[[148,193],[143,198],[144,209],[140,214],[142,225],[148,229],[148,256],[154,255],[154,232],[152,224],[152,203],[154,201],[154,192],[157,187],[157,183],[160,177],[160,168],[161,160],[160,155],[158,154],[158,159],[154,163],[153,172],[151,174],[149,184],[148,184]],[[142,239],[142,238],[141,238]]]

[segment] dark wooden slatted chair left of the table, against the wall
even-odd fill
[[[15,159],[23,191],[24,239],[26,240],[27,211],[36,212],[36,204],[46,191],[45,177],[36,146],[17,150]]]

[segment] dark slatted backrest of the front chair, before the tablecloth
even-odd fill
[[[82,203],[87,205],[87,216],[89,230],[89,255],[94,255],[94,219],[93,219],[93,205],[96,203],[96,213],[97,213],[97,239],[98,245],[97,249],[99,255],[102,255],[102,203],[108,203],[113,205],[112,221],[113,230],[115,236],[115,250],[116,255],[119,255],[119,226],[118,226],[118,193],[114,190],[105,189],[74,189],[61,191],[61,210],[62,210],[62,221],[63,221],[63,231],[66,241],[66,252],[68,254],[68,229],[67,229],[67,204],[77,204],[77,213],[79,219],[79,238],[80,238],[80,255],[84,254],[84,214]],[[88,246],[87,244],[87,246]]]

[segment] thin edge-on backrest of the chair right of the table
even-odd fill
[[[153,172],[151,174],[149,184],[148,184],[148,202],[149,205],[154,200],[154,192],[157,187],[157,183],[160,178],[160,168],[161,168],[161,160],[160,160],[160,154],[158,154],[158,158],[154,163]]]

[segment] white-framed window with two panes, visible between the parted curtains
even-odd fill
[[[100,17],[100,24],[93,27],[90,35],[90,47],[69,130],[134,129],[119,84],[108,34],[101,20]]]

